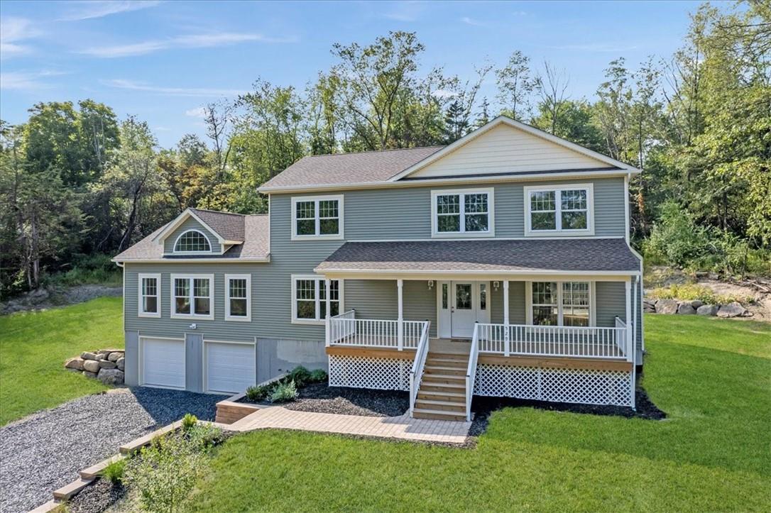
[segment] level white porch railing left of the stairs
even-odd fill
[[[355,311],[348,310],[329,319],[327,345],[415,349],[426,322],[402,320],[403,343],[399,347],[398,320],[356,319]]]

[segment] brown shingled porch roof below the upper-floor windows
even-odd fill
[[[317,273],[639,273],[624,239],[348,242]]]

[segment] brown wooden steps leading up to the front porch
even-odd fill
[[[466,421],[466,368],[470,345],[431,340],[412,416]]]

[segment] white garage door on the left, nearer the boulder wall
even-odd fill
[[[148,387],[185,387],[184,340],[142,339],[142,384]]]

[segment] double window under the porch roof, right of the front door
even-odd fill
[[[535,326],[577,326],[591,320],[591,283],[588,281],[534,281],[527,283],[527,322]]]

